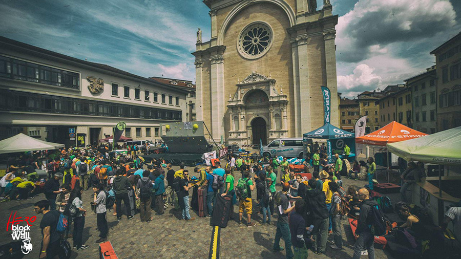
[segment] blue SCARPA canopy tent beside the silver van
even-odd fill
[[[341,150],[339,154],[343,153],[344,145],[348,145],[350,148],[349,158],[355,156],[355,134],[351,132],[346,132],[337,128],[330,123],[325,123],[325,125],[317,128],[308,133],[303,134],[305,139],[326,139],[327,140],[327,153],[328,153],[328,163],[332,162],[332,154],[334,150]],[[336,153],[336,152],[335,152]],[[341,156],[343,158],[343,156]]]

